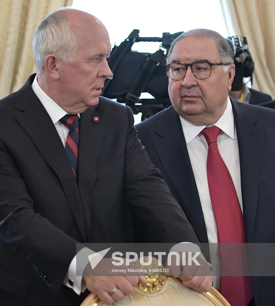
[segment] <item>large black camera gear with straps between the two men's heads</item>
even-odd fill
[[[117,99],[131,107],[134,114],[142,113],[142,120],[171,105],[166,75],[166,51],[171,42],[183,32],[162,33],[162,37],[140,37],[134,29],[119,46],[115,46],[107,59],[112,76],[105,80],[102,95]],[[160,42],[155,53],[132,51],[133,43]],[[139,99],[148,92],[154,99]]]

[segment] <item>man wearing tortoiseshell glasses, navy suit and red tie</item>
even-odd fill
[[[172,106],[136,128],[199,240],[220,243],[207,258],[221,271],[214,287],[232,306],[271,306],[274,277],[249,277],[245,248],[242,272],[223,274],[236,261],[222,245],[275,242],[275,111],[229,99],[233,63],[217,32],[180,35],[167,56]]]

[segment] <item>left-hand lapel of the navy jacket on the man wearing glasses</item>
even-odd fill
[[[207,242],[203,211],[184,134],[179,115],[172,106],[163,112],[155,133],[162,136],[154,141],[154,146],[180,204],[188,215],[199,240]]]

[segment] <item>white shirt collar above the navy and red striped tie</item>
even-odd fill
[[[37,82],[37,75],[35,76],[34,81],[32,82],[32,90],[43,104],[44,108],[46,109],[54,124],[56,124],[62,117],[68,114],[40,88]],[[78,117],[80,117],[79,114]]]

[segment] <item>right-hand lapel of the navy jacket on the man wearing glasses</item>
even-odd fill
[[[233,100],[232,108],[240,156],[244,227],[249,242],[257,211],[264,129],[257,127],[258,118],[247,106]]]

